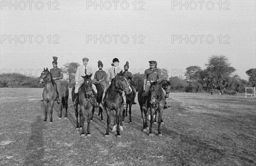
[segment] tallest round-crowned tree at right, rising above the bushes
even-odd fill
[[[209,74],[216,79],[217,85],[222,91],[224,80],[227,79],[231,73],[236,71],[235,68],[230,66],[227,57],[221,55],[213,55],[209,58],[208,64],[206,64]]]

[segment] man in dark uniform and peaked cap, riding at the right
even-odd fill
[[[149,66],[150,68],[145,70],[145,74],[144,74],[144,85],[143,85],[143,90],[145,90],[144,93],[144,101],[145,104],[143,105],[143,109],[147,109],[147,99],[148,99],[148,92],[150,89],[150,82],[155,82],[157,80],[161,79],[161,73],[160,70],[156,68],[157,62],[156,61],[149,61]],[[163,93],[164,96],[166,96],[166,91],[163,89]],[[167,108],[167,106],[165,105],[164,108]]]

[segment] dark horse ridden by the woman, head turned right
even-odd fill
[[[109,124],[110,120],[110,111],[113,110],[114,115],[114,126],[112,131],[117,132],[117,137],[120,137],[120,130],[122,131],[122,92],[125,91],[126,94],[131,93],[131,87],[128,81],[122,76],[122,71],[112,79],[111,85],[106,92],[106,97],[104,101],[104,107],[107,112],[107,131],[105,137],[109,136]],[[120,123],[120,126],[119,126]],[[117,129],[116,129],[117,128]]]

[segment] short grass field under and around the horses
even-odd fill
[[[71,91],[71,90],[70,90]],[[1,88],[0,165],[32,166],[255,166],[256,99],[170,93],[163,112],[163,137],[143,132],[139,105],[132,108],[132,121],[125,118],[122,137],[106,132],[104,121],[94,114],[90,132],[81,137],[75,112],[68,119],[43,122],[42,88]],[[71,96],[69,105],[72,104]],[[65,113],[64,113],[65,115]],[[87,123],[85,123],[87,127]],[[111,116],[113,127],[113,116]],[[157,131],[157,124],[153,124]]]

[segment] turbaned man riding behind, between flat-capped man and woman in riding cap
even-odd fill
[[[98,61],[98,68],[99,70],[96,71],[94,75],[93,84],[101,84],[103,87],[103,90],[105,90],[107,87],[107,84],[106,84],[107,73],[102,70],[103,63],[100,60]]]

